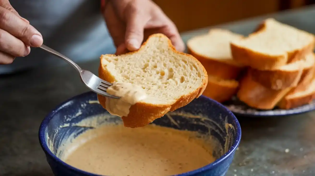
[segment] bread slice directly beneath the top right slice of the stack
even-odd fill
[[[307,54],[302,60],[291,62],[272,70],[252,70],[253,79],[267,88],[281,90],[288,87],[296,87],[304,72],[315,65],[314,53]]]

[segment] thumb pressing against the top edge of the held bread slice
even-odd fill
[[[134,11],[134,13],[129,13],[129,17],[126,19],[126,34],[125,34],[125,44],[129,51],[138,50],[143,41],[143,32],[146,22],[143,15]]]

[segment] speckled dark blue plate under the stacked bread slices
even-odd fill
[[[247,116],[247,117],[268,117],[268,116],[284,116],[284,115],[295,115],[301,114],[305,112],[309,112],[315,110],[315,101],[311,104],[303,105],[293,109],[272,109],[272,110],[259,110],[254,109],[236,97],[233,97],[232,100],[223,103],[230,111],[233,112],[234,115],[239,116]]]

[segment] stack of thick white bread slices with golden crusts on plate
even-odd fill
[[[256,109],[292,109],[315,99],[315,36],[275,19],[245,37],[211,29],[187,42],[208,73],[203,95]]]

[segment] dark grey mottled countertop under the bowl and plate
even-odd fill
[[[249,34],[266,17],[315,33],[315,6],[216,27]],[[207,32],[200,29],[184,33]],[[99,61],[79,63],[97,73]],[[69,65],[51,65],[0,76],[0,175],[52,176],[37,137],[55,106],[88,91]],[[281,118],[242,118],[241,144],[228,176],[315,175],[315,112]]]

